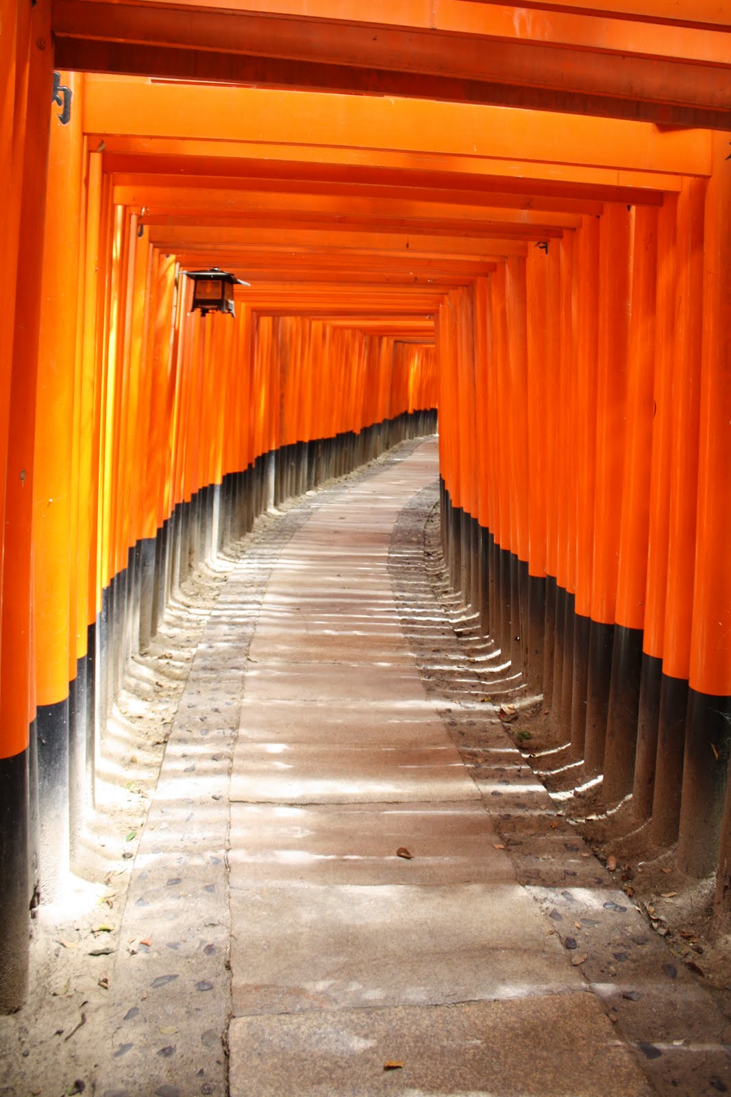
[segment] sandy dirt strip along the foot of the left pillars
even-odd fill
[[[0,1017],[0,1094],[93,1093],[89,1065],[106,1038],[115,955],[144,950],[119,927],[137,846],[187,671],[236,551],[205,564],[168,608],[146,655],[136,655],[98,759],[88,817],[62,902],[42,903],[31,924],[26,1005]]]

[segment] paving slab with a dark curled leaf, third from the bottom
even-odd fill
[[[481,804],[232,804],[230,886],[514,883]],[[397,855],[406,848],[411,860]]]

